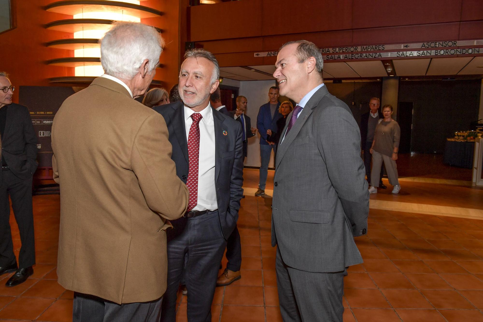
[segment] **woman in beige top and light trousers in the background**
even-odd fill
[[[371,194],[377,193],[377,187],[379,187],[379,169],[383,161],[387,176],[389,177],[389,183],[394,186],[392,193],[397,194],[401,189],[398,181],[398,168],[396,166],[401,129],[398,122],[392,119],[392,112],[392,105],[384,105],[384,119],[381,119],[376,127],[372,147],[369,150],[372,154],[371,187],[369,188],[369,193]]]

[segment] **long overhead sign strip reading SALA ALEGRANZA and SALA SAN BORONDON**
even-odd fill
[[[324,55],[323,56],[324,60],[483,54],[482,48],[447,49],[448,47],[478,46],[478,45],[483,45],[483,39],[380,44],[380,45],[365,45],[365,46],[341,46],[341,47],[331,47],[331,48],[320,48],[320,52],[322,54],[335,54],[335,55]],[[441,49],[425,50],[428,48],[441,48]],[[401,49],[401,51],[387,52],[389,50],[395,50],[395,49],[396,50]],[[423,49],[423,50],[414,51],[411,49]],[[373,52],[373,53],[363,53],[363,52]],[[278,55],[278,51],[259,52],[254,54],[255,57],[270,57],[270,56],[277,56],[277,55]]]

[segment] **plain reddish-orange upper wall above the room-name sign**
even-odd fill
[[[481,0],[242,0],[188,10],[188,39],[220,66],[273,64],[253,52],[298,39],[330,47],[483,38]]]

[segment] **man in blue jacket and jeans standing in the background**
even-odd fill
[[[270,136],[277,132],[277,120],[282,117],[282,114],[278,112],[278,108],[280,107],[278,97],[279,88],[277,86],[270,87],[270,101],[260,106],[258,116],[256,117],[256,128],[260,133],[260,158],[262,165],[260,166],[260,182],[255,196],[265,195],[270,154],[272,149],[276,149],[275,142],[270,141]]]

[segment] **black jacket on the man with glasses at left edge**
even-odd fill
[[[14,175],[29,179],[37,169],[37,136],[27,107],[8,105],[5,130],[1,138],[1,155]],[[0,182],[3,177],[0,171]]]

